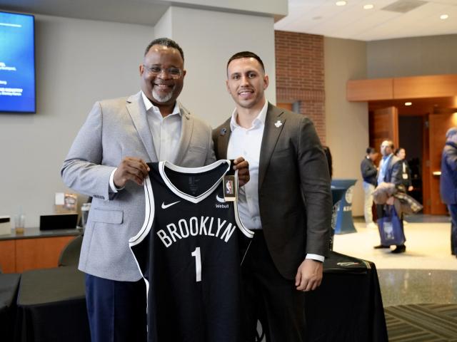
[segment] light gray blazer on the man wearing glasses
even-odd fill
[[[183,167],[214,162],[211,126],[181,105],[180,110],[179,149],[169,162]],[[141,92],[95,103],[61,169],[68,187],[94,197],[79,269],[105,279],[137,281],[141,274],[129,249],[129,238],[144,223],[144,189],[134,182],[127,182],[117,193],[109,187],[111,172],[124,157],[158,161]]]

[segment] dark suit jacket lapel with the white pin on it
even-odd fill
[[[260,149],[260,160],[258,165],[258,189],[260,190],[263,179],[265,178],[266,170],[270,164],[271,155],[273,155],[274,147],[278,142],[285,119],[281,118],[283,110],[268,103],[268,110],[265,118],[265,128],[263,129],[262,145]]]

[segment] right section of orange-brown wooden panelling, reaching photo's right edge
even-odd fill
[[[393,98],[440,98],[457,95],[457,75],[393,78]]]

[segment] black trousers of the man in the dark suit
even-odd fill
[[[243,341],[256,341],[257,320],[268,342],[306,341],[304,293],[279,274],[261,231],[254,234],[241,274]]]

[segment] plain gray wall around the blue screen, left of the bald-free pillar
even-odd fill
[[[0,215],[22,207],[26,227],[68,191],[59,170],[94,101],[136,93],[154,28],[36,16],[37,113],[0,114]],[[85,197],[81,198],[81,201]]]

